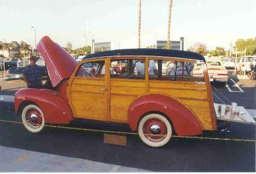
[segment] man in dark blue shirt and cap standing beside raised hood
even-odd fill
[[[30,57],[30,64],[25,67],[23,71],[23,79],[27,83],[28,88],[41,88],[42,86],[42,72],[41,68],[35,64],[37,57]]]

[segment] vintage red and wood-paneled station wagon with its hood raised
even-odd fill
[[[37,49],[54,89],[16,92],[16,114],[30,132],[40,132],[46,123],[93,119],[128,124],[144,143],[160,147],[174,133],[188,136],[217,130],[218,110],[205,59],[198,53],[110,50],[77,63],[49,37],[43,37]],[[193,73],[198,72],[194,67],[200,67],[201,75]]]

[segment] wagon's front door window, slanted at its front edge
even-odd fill
[[[104,61],[86,62],[80,66],[75,76],[77,77],[104,77]]]

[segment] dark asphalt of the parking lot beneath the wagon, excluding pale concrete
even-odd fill
[[[214,102],[237,102],[239,106],[255,110],[255,81],[229,79],[228,87],[212,88]],[[0,95],[14,95],[24,88],[24,82],[0,81]],[[236,84],[240,87],[237,88]],[[231,92],[232,91],[232,92]],[[222,95],[221,95],[222,94]],[[0,102],[0,119],[19,121],[8,107],[12,102]],[[127,125],[103,124],[76,120],[71,126],[78,128],[129,131]],[[203,137],[231,139],[255,139],[255,125],[232,123],[230,133],[205,131]],[[172,138],[167,146],[151,148],[145,146],[136,135],[127,136],[127,146],[103,143],[103,133],[60,128],[45,128],[33,134],[20,124],[0,122],[0,146],[37,151],[40,153],[80,158],[154,172],[255,172],[255,142],[237,142],[206,139]],[[1,160],[0,160],[1,161]],[[0,165],[0,172],[1,172]],[[19,169],[9,169],[17,172]],[[5,172],[8,172],[5,170]],[[36,169],[35,169],[36,171]],[[44,171],[37,171],[44,172]]]

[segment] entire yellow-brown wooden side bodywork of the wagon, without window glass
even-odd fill
[[[137,58],[137,57],[136,57]],[[142,59],[142,57],[139,57]],[[156,57],[154,57],[155,59]],[[111,59],[135,59],[134,57],[113,57]],[[149,66],[145,57],[145,67]],[[167,59],[161,57],[161,59]],[[171,58],[168,58],[171,59]],[[87,61],[104,60],[104,78],[74,77],[78,67]],[[176,60],[176,59],[175,59]],[[178,59],[177,59],[178,60]],[[196,61],[189,60],[196,63]],[[149,80],[149,70],[145,69],[145,79],[110,78],[110,59],[90,59],[81,61],[73,77],[68,81],[67,98],[74,117],[99,121],[128,123],[129,108],[141,96],[158,94],[172,97],[185,106],[197,119],[202,130],[215,130],[216,119],[212,110],[213,102],[210,82],[159,81]],[[207,69],[205,69],[207,71]],[[208,75],[204,71],[204,76]],[[107,89],[106,91],[100,88]],[[150,111],[150,108],[148,108]]]

